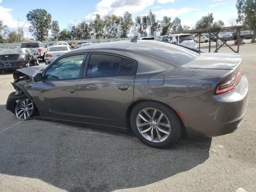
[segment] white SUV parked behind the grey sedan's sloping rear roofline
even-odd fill
[[[160,36],[160,38],[158,38],[157,40],[168,42],[167,35]],[[170,43],[182,45],[191,49],[196,49],[196,41],[194,40],[192,34],[171,34],[170,40]]]

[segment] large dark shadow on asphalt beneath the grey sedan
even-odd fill
[[[0,173],[38,178],[69,191],[145,186],[209,157],[210,138],[183,139],[171,148],[156,149],[109,129],[35,119],[19,122],[4,105],[0,112]]]

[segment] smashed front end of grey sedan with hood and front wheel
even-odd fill
[[[26,120],[33,115],[36,106],[30,94],[33,79],[32,77],[42,71],[45,66],[34,66],[14,71],[14,82],[11,83],[15,92],[12,92],[7,99],[6,109],[11,111],[20,120]]]

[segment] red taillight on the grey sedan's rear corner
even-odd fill
[[[236,74],[233,74],[230,78],[224,80],[217,85],[214,94],[222,94],[233,90],[238,82],[240,75],[242,74],[242,67],[239,68]]]

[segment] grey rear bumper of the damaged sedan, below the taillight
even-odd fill
[[[184,118],[190,137],[220,136],[234,132],[242,122],[248,106],[248,81],[244,75],[231,92],[208,94],[169,103]]]

